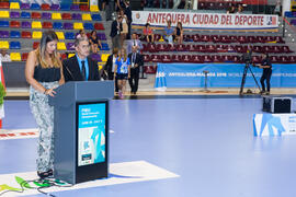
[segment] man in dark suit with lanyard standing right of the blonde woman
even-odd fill
[[[139,82],[139,67],[144,66],[143,56],[137,53],[137,47],[132,47],[132,54],[128,55],[130,60],[130,78],[128,79],[130,85],[130,93],[137,94]]]

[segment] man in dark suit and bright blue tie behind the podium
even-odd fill
[[[87,37],[75,40],[76,55],[62,61],[65,82],[67,81],[99,81],[98,62],[89,56],[90,44]]]

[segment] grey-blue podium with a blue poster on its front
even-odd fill
[[[107,177],[109,100],[113,81],[71,81],[49,96],[54,109],[54,177],[78,184]]]

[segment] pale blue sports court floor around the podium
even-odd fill
[[[252,116],[261,113],[261,102],[113,100],[110,163],[145,160],[180,177],[54,195],[295,197],[296,136],[254,138]],[[5,102],[3,128],[36,128],[27,101]],[[34,171],[35,158],[36,139],[0,140],[0,174]]]

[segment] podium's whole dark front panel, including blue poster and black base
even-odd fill
[[[109,103],[77,103],[76,183],[107,176]]]

